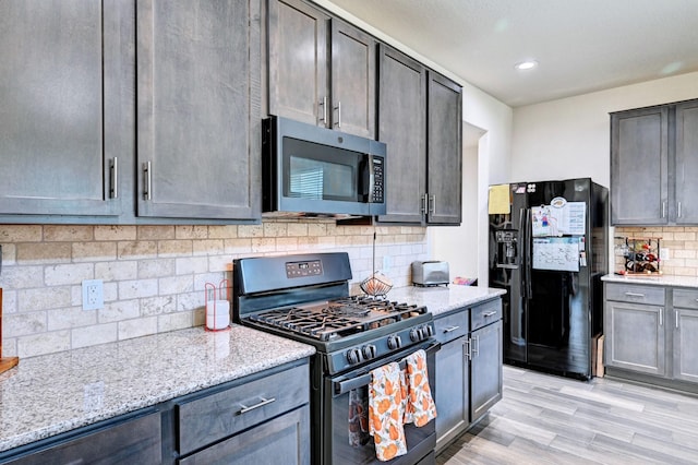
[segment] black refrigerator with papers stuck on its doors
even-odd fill
[[[490,287],[504,362],[582,380],[603,334],[609,191],[589,178],[490,187]]]

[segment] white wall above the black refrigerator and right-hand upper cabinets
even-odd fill
[[[516,108],[506,181],[590,177],[609,187],[609,112],[697,97],[689,73]]]

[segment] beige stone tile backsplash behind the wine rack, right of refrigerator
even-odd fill
[[[616,227],[614,233],[614,269],[624,270],[625,258],[621,246],[625,237],[660,238],[660,250],[666,258],[660,262],[663,274],[675,276],[698,276],[698,227],[647,226]]]

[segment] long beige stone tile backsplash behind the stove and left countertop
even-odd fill
[[[230,226],[0,225],[2,355],[32,357],[204,324],[204,286],[231,279],[239,257],[346,251],[352,293],[375,267],[396,287],[425,260],[426,228],[264,220]],[[82,309],[103,279],[105,308]]]

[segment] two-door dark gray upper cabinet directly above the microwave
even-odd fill
[[[299,0],[268,3],[268,112],[373,139],[375,40]]]

